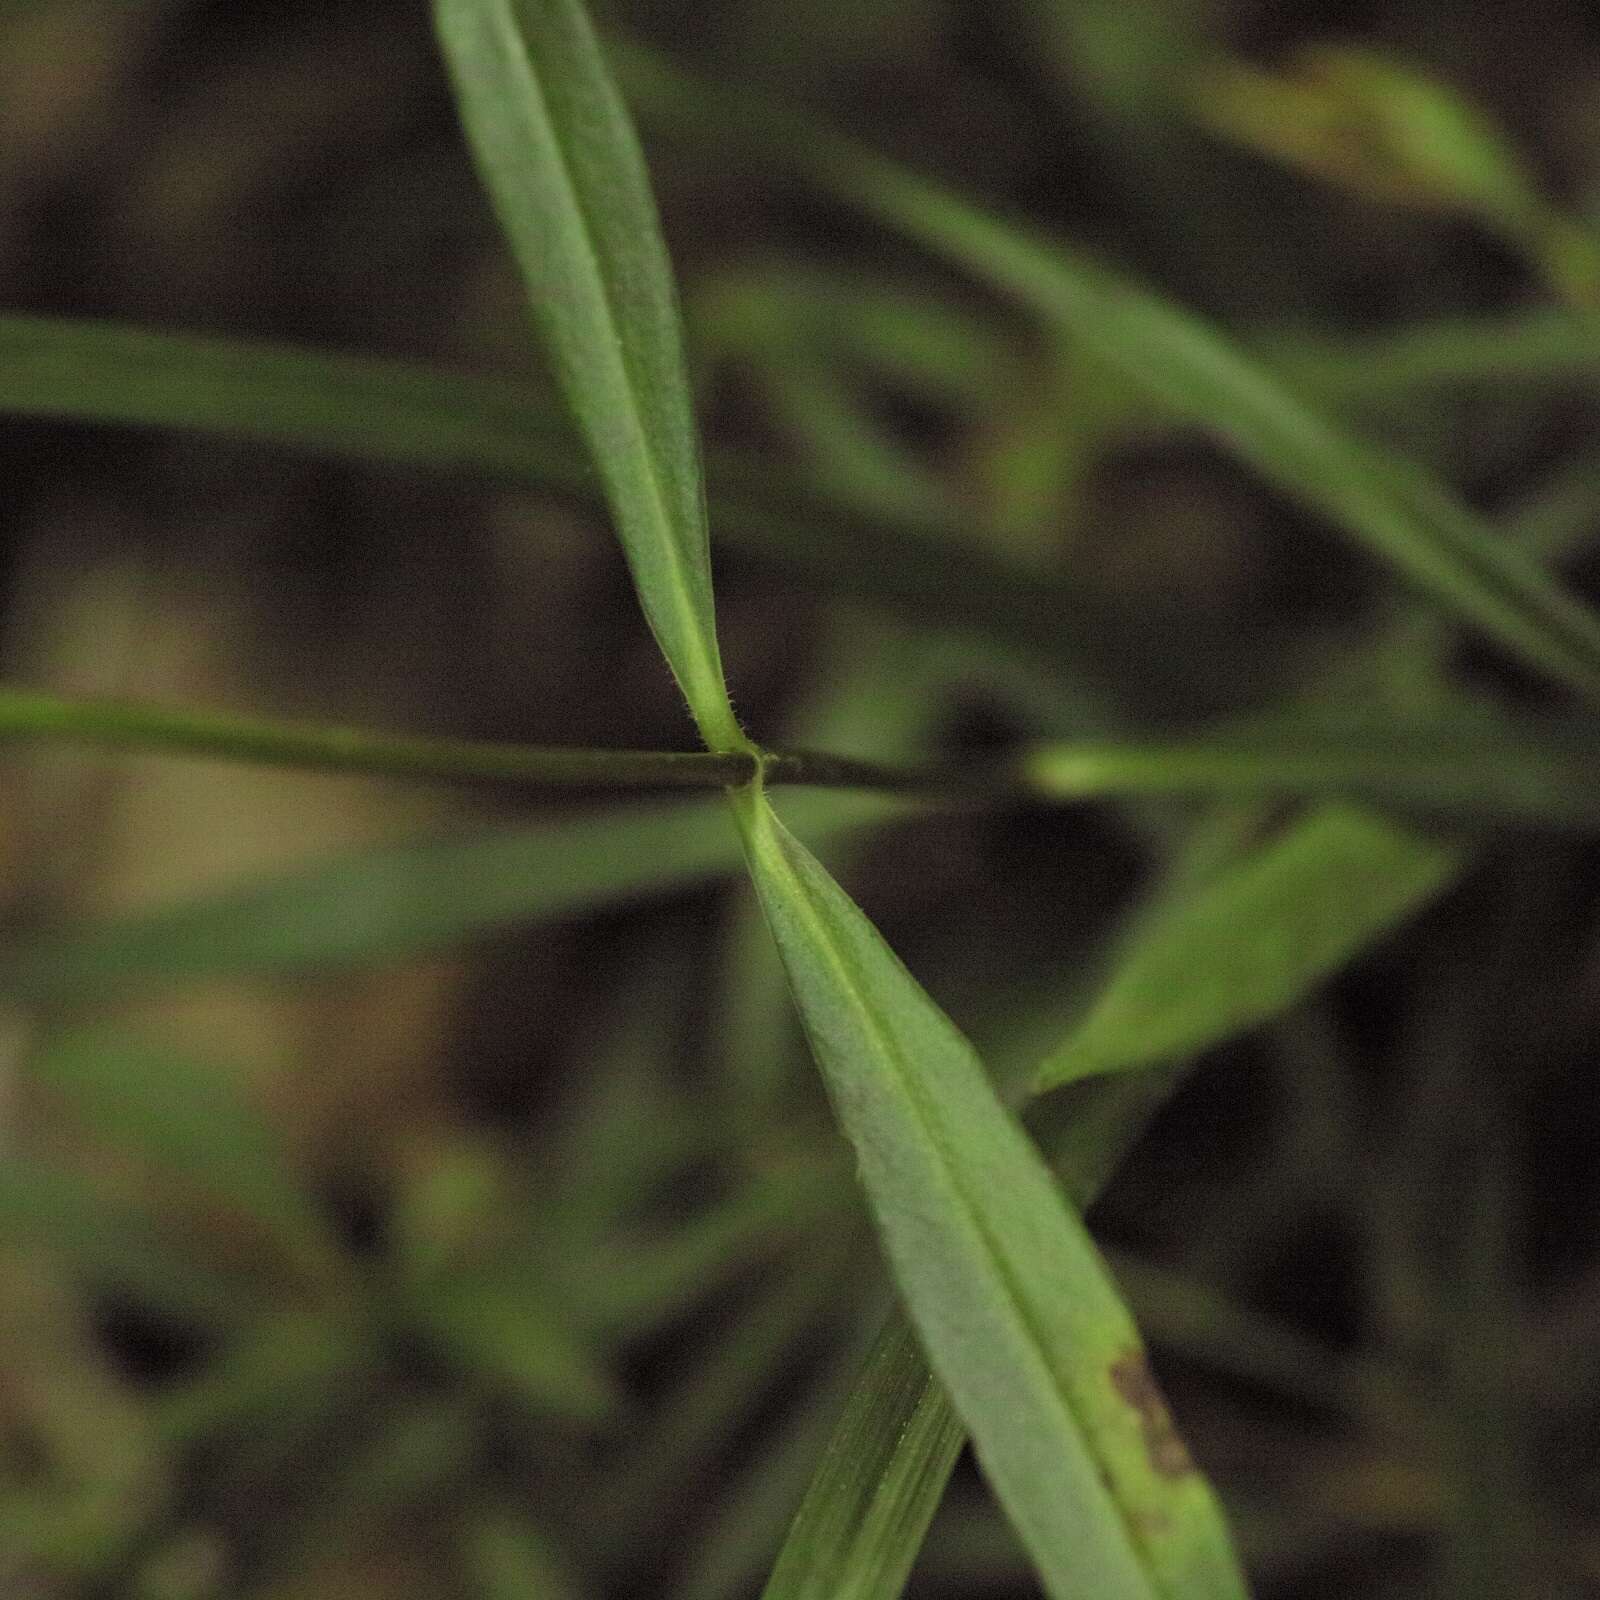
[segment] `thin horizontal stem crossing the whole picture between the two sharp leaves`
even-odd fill
[[[1131,795],[1346,795],[1427,816],[1600,827],[1586,718],[1526,730],[1462,717],[1376,731],[1214,728],[1173,739],[1075,739],[923,766],[814,750],[571,750],[426,739],[227,712],[0,690],[0,742],[66,739],[168,755],[539,790],[813,789],[926,794],[942,802],[1072,805]]]

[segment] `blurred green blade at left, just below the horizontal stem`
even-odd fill
[[[797,794],[821,832],[893,816],[901,802]],[[382,846],[270,882],[0,950],[0,995],[58,1003],[152,984],[381,965],[518,922],[578,915],[739,869],[722,798],[629,805],[467,838]]]

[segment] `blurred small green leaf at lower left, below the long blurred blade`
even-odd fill
[[[118,1149],[237,1206],[291,1262],[339,1274],[338,1242],[294,1181],[274,1130],[214,1064],[94,1027],[51,1038],[29,1074]]]

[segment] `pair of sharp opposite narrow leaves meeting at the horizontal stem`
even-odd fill
[[[573,0],[440,0],[437,14],[645,614],[706,742],[749,750],[722,678],[666,251],[598,43]],[[760,781],[731,803],[901,1293],[1046,1587],[1242,1595],[1131,1318],[982,1064]]]

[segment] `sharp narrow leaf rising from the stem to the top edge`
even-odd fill
[[[746,750],[712,608],[699,446],[645,162],[578,0],[435,0],[461,118],[706,742]]]

